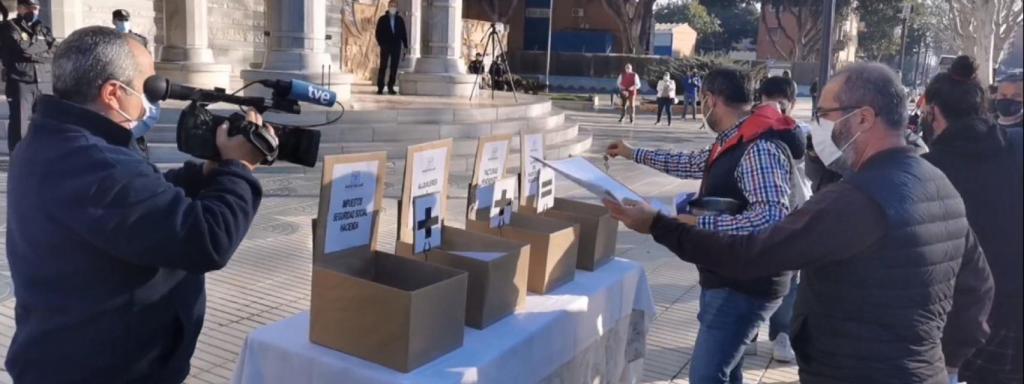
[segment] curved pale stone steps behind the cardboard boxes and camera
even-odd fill
[[[522,131],[544,132],[546,158],[564,159],[586,152],[592,142],[589,134],[580,133],[580,125],[565,118],[565,113],[552,106],[547,97],[519,95],[518,102],[509,94],[495,100],[478,97],[477,101],[421,96],[377,96],[358,94],[348,105],[344,117],[337,123],[319,127],[321,156],[356,154],[384,151],[388,153],[388,184],[400,184],[404,170],[406,150],[409,145],[441,138],[454,138],[451,183],[453,194],[465,189],[472,176],[473,162],[479,137],[494,134],[518,135]],[[158,125],[146,134],[150,140],[151,161],[161,168],[179,166],[189,159],[178,151],[176,124],[183,102],[165,101]],[[3,105],[4,108],[6,105]],[[316,124],[337,116],[337,111],[327,111],[303,104],[304,113],[267,115],[266,119],[285,124]],[[229,115],[238,109],[232,105],[213,105],[218,115]],[[0,110],[0,140],[6,139],[6,111]],[[6,142],[0,152],[6,151]],[[509,172],[518,172],[519,140],[512,140]],[[305,167],[280,162],[261,168],[268,173],[311,172]],[[318,172],[315,171],[315,172]],[[464,193],[464,191],[462,191]],[[388,195],[391,195],[390,191]]]

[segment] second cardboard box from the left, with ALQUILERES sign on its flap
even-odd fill
[[[399,217],[407,221],[401,223],[398,230],[395,253],[468,272],[469,289],[465,297],[466,325],[484,329],[512,314],[518,305],[525,302],[529,245],[444,225],[442,209],[433,213],[433,217],[427,217],[423,212],[411,212],[424,209],[416,204],[423,201],[414,198],[417,194],[432,194],[439,197],[435,199],[440,200],[444,200],[442,197],[447,196],[447,173],[431,172],[430,177],[439,180],[436,183],[425,181],[424,177],[417,175],[416,172],[422,172],[427,168],[418,166],[416,162],[426,159],[417,154],[446,148],[443,160],[433,160],[435,163],[446,164],[447,154],[451,154],[452,148],[451,142],[441,140],[410,146],[407,159],[412,160],[406,163],[406,184],[402,188],[401,202],[398,204]],[[507,148],[504,151],[507,152]],[[417,190],[419,185],[437,187]],[[442,206],[440,202],[431,202],[429,205],[431,211]],[[426,233],[427,225],[432,227],[429,236]],[[439,247],[417,244],[417,242],[429,243],[427,239],[434,236],[439,238]]]

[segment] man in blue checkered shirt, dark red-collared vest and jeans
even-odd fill
[[[711,71],[700,91],[706,124],[718,133],[713,145],[691,153],[608,146],[624,157],[667,174],[702,179],[700,197],[740,203],[736,214],[680,220],[702,229],[750,233],[780,221],[794,208],[794,159],[802,159],[806,138],[796,122],[775,108],[751,110],[749,77],[737,69]],[[690,365],[691,383],[742,383],[743,349],[788,292],[790,272],[735,280],[698,267],[700,328]]]

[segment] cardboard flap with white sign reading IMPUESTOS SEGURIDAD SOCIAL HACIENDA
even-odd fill
[[[314,257],[375,248],[386,153],[324,158]]]

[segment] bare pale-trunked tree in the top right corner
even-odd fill
[[[963,54],[981,66],[982,84],[992,82],[992,69],[1002,58],[1002,47],[1024,22],[1021,0],[945,0],[948,30]],[[940,27],[941,28],[941,27]]]

